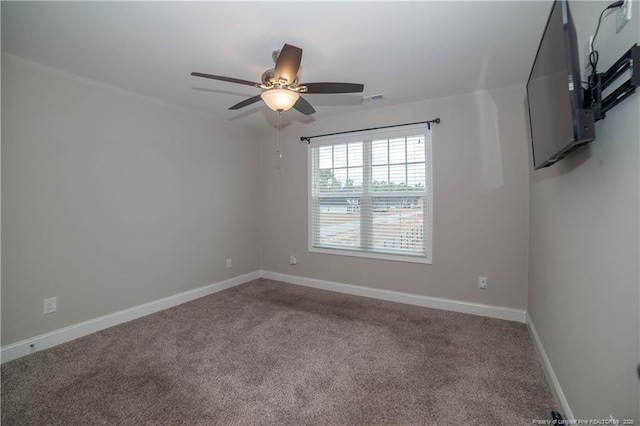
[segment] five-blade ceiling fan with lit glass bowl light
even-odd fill
[[[244,108],[262,99],[274,111],[287,111],[294,108],[305,115],[311,115],[316,110],[300,96],[300,93],[357,93],[364,90],[364,85],[357,83],[298,84],[298,69],[302,61],[302,49],[299,47],[285,44],[282,49],[273,52],[272,58],[276,64],[275,68],[268,69],[262,74],[262,83],[200,72],[192,72],[191,75],[262,89],[262,93],[233,105],[229,108],[231,110]]]

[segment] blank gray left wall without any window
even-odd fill
[[[3,54],[2,345],[259,269],[257,142]]]

